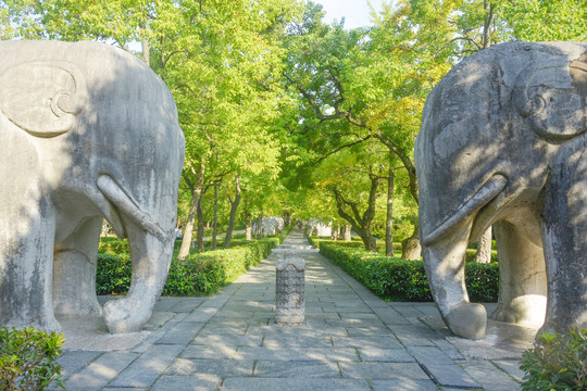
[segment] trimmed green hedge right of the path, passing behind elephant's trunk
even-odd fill
[[[422,261],[388,257],[327,241],[320,242],[320,252],[380,298],[408,302],[433,300]],[[497,263],[467,263],[465,283],[471,301],[496,302],[498,278]]]

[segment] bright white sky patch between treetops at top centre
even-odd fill
[[[326,12],[325,22],[340,22],[345,17],[345,28],[366,27],[371,25],[371,8],[367,0],[313,0],[321,3]],[[382,11],[384,0],[370,0],[377,13]]]

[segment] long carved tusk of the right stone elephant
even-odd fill
[[[422,241],[424,245],[430,245],[448,232],[450,232],[454,226],[464,222],[476,213],[479,209],[489,203],[497,194],[505,187],[508,178],[501,174],[495,174],[489,180],[487,180],[479,190],[464,203],[454,215],[449,217],[438,228],[430,234],[426,235]]]

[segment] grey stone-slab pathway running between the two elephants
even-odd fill
[[[285,249],[307,261],[299,327],[273,321]],[[142,332],[111,336],[100,319],[62,324],[67,390],[511,391],[536,332],[490,321],[482,341],[452,337],[433,303],[379,300],[297,229],[218,294],[162,298]]]

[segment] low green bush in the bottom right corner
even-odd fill
[[[587,330],[538,336],[523,354],[523,390],[586,390]]]

